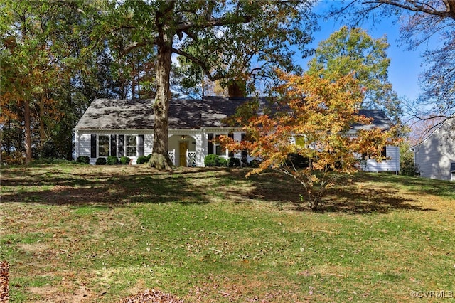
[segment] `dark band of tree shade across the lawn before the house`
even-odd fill
[[[127,203],[212,203],[228,199],[237,203],[261,200],[276,204],[293,204],[300,211],[307,210],[301,203],[301,188],[294,180],[269,171],[245,179],[247,169],[177,169],[157,171],[145,166],[41,166],[4,169],[2,203],[26,202],[46,205],[121,207]],[[380,178],[390,186],[368,186]],[[418,193],[424,193],[427,179]],[[358,174],[353,181],[331,188],[321,211],[347,213],[387,213],[391,209],[429,211],[414,199],[397,195],[396,186],[409,186],[407,179],[390,174]],[[440,184],[440,183],[437,183]],[[432,189],[432,193],[450,195],[446,184]]]

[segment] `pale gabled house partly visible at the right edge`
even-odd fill
[[[411,150],[420,176],[455,181],[455,115]]]

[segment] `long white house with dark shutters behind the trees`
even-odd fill
[[[240,128],[228,127],[223,119],[235,114],[245,98],[204,97],[202,100],[171,100],[169,105],[168,153],[176,166],[204,166],[208,154],[225,158],[232,154],[213,144],[219,135],[235,140],[245,138]],[[265,100],[265,98],[260,98]],[[90,164],[98,157],[129,156],[136,164],[139,156],[151,154],[154,136],[154,100],[97,99],[90,104],[74,128],[75,153],[89,156]],[[391,122],[380,110],[360,110],[360,115],[373,117],[371,125],[354,125],[352,134],[365,127],[388,129]],[[385,147],[387,157],[380,163],[373,159],[363,161],[368,171],[398,171],[398,147]],[[248,156],[247,161],[252,159]]]

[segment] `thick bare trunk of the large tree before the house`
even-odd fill
[[[173,164],[168,154],[168,113],[171,100],[169,78],[171,75],[172,36],[166,31],[160,35],[157,52],[154,147],[149,166],[160,170],[171,170]]]

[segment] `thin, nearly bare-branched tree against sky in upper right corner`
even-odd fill
[[[395,16],[408,48],[426,48],[422,92],[407,113],[424,120],[451,117],[455,113],[455,1],[354,0],[345,4],[334,9],[333,15],[348,16],[355,24]]]

